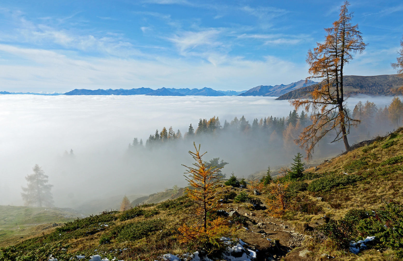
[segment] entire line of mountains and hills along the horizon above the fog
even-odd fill
[[[137,88],[131,90],[125,89],[75,89],[66,92],[64,95],[138,95],[145,94],[150,96],[278,96],[277,100],[292,100],[295,98],[309,97],[308,92],[311,92],[318,86],[316,81],[300,80],[291,84],[280,84],[275,86],[260,85],[251,88],[247,91],[220,91],[212,88],[204,87],[202,89],[175,89],[175,88],[160,88],[153,90],[151,88]],[[397,74],[391,75],[375,75],[375,76],[344,76],[344,90],[347,94],[368,94],[368,95],[391,95],[392,89],[403,86],[403,78]],[[34,94],[34,95],[61,95],[42,94],[33,92],[0,92],[0,94]]]

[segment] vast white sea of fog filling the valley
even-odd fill
[[[379,108],[391,99],[355,96],[349,99],[349,107],[352,110],[359,100],[370,100]],[[0,95],[0,205],[23,204],[21,186],[35,164],[49,175],[58,207],[75,207],[83,200],[106,196],[151,194],[175,184],[185,186],[181,164],[192,163],[186,155],[192,149],[190,144],[183,153],[168,155],[169,161],[156,155],[147,165],[128,163],[128,144],[135,137],[145,142],[162,127],[172,126],[184,134],[190,123],[196,129],[200,118],[218,116],[223,125],[225,119],[245,115],[252,123],[254,118],[270,115],[286,117],[290,110],[287,100],[262,96]],[[340,143],[335,146],[337,151],[343,149]],[[74,159],[65,159],[64,152],[71,149]],[[255,152],[243,153],[250,156]],[[208,155],[209,159],[224,159],[215,151]],[[290,160],[281,155],[264,157],[268,164],[276,165]],[[227,172],[237,171],[241,165],[241,175],[263,169],[260,163],[239,162],[242,158],[226,155]]]

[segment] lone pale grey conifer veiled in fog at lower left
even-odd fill
[[[53,206],[53,196],[50,190],[53,185],[48,183],[48,176],[45,175],[44,171],[36,164],[33,168],[33,174],[27,175],[25,179],[27,180],[27,187],[22,188],[25,193],[21,193],[26,206],[37,206],[37,207],[52,207]]]

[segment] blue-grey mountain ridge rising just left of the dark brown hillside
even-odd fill
[[[318,82],[316,81],[305,82],[305,80],[300,80],[287,85],[284,84],[275,86],[260,85],[250,90],[247,90],[246,92],[241,93],[238,96],[281,96],[292,90],[297,90],[299,88],[303,88],[317,83]]]

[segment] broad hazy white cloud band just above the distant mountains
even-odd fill
[[[69,91],[74,88],[161,88],[206,86],[249,89],[260,84],[291,83],[306,77],[306,66],[267,56],[264,61],[210,54],[206,62],[154,57],[71,58],[56,51],[0,45],[0,51],[23,59],[0,60],[2,88],[8,91]],[[208,54],[206,54],[208,55]]]

